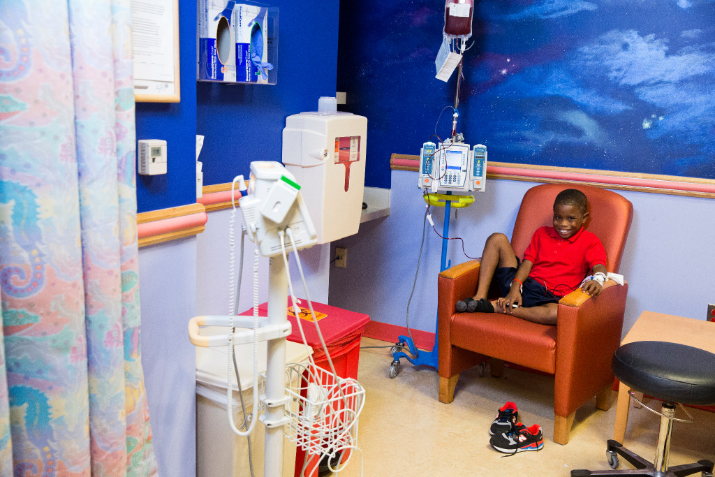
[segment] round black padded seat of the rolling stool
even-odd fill
[[[681,404],[715,404],[715,354],[664,341],[636,341],[616,350],[613,374],[654,398]]]

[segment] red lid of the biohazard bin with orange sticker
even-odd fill
[[[318,320],[318,325],[320,325],[322,339],[325,340],[326,345],[338,342],[349,335],[362,334],[363,330],[365,330],[365,325],[370,321],[370,316],[365,315],[365,313],[343,310],[342,308],[317,303],[315,301],[312,302],[312,305]],[[318,338],[317,330],[315,330],[315,325],[312,323],[312,316],[310,315],[307,300],[300,300],[298,306],[301,308],[301,311],[304,312],[302,313],[303,318],[300,318],[302,320],[300,323],[303,328],[303,333],[305,333],[307,344],[311,348],[320,348],[320,338]],[[288,297],[288,308],[291,307],[292,302],[290,297]],[[290,333],[287,339],[294,343],[302,343],[296,318],[292,315],[292,312],[288,313],[288,308],[286,308],[286,315],[292,325],[292,333]],[[267,313],[268,303],[262,303],[258,306],[258,314],[260,316],[267,316]],[[241,315],[252,314],[252,308],[241,313]]]

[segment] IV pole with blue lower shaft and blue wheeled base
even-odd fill
[[[464,54],[464,48],[466,45],[466,41],[462,40],[462,44],[460,46],[460,53]],[[455,142],[457,139],[457,118],[459,117],[459,114],[457,113],[457,107],[459,106],[459,89],[461,85],[461,79],[462,79],[462,66],[464,63],[464,56],[459,60],[459,65],[457,68],[457,86],[455,89],[455,94],[454,94],[454,114],[452,115],[452,142]],[[452,191],[448,190],[447,195],[452,195]],[[444,202],[444,207],[445,207],[445,223],[442,228],[442,256],[440,260],[440,273],[447,270],[449,267],[452,266],[452,261],[450,260],[449,262],[447,261],[447,245],[449,242],[449,216],[450,216],[450,209],[452,206],[452,201],[451,200],[445,200]],[[435,323],[435,344],[432,347],[431,351],[420,351],[417,349],[415,346],[415,343],[410,336],[404,336],[400,335],[398,336],[398,343],[393,346],[393,348],[390,349],[390,352],[393,355],[393,362],[390,364],[390,378],[395,378],[395,376],[400,373],[400,358],[405,358],[407,359],[411,364],[413,365],[428,365],[431,366],[432,368],[438,369],[439,365],[439,330],[438,326]],[[404,346],[407,346],[407,348],[410,350],[410,353],[412,353],[415,358],[410,357],[407,353],[404,351],[400,351],[400,349],[403,349]]]

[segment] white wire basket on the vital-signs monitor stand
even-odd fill
[[[285,436],[307,453],[332,459],[358,441],[358,416],[365,390],[352,378],[340,378],[315,365],[286,365]],[[260,375],[264,388],[265,374]],[[261,405],[263,408],[263,405]],[[261,409],[263,412],[263,409]],[[349,457],[341,459],[347,464]],[[337,470],[337,469],[336,469]]]

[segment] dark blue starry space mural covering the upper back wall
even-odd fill
[[[337,86],[389,187],[385,156],[450,134],[444,2],[346,3]],[[715,0],[475,0],[467,46],[458,131],[490,161],[715,179]]]

